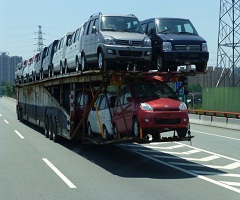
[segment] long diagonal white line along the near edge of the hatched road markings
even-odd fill
[[[126,148],[125,148],[125,149],[126,149]],[[127,149],[127,150],[128,150],[128,149]],[[178,167],[178,166],[172,165],[172,164],[167,163],[167,162],[165,162],[165,161],[158,160],[158,159],[156,159],[156,158],[153,158],[152,156],[145,155],[145,154],[143,154],[143,153],[141,153],[141,152],[138,152],[138,151],[134,151],[134,152],[137,153],[137,154],[139,154],[139,155],[142,155],[142,156],[144,156],[144,157],[147,157],[147,158],[149,158],[149,159],[151,159],[151,160],[154,160],[154,161],[156,161],[156,162],[158,162],[158,163],[161,163],[161,164],[166,165],[166,166],[168,166],[168,167],[174,168],[174,169],[176,169],[176,170],[178,170],[178,171],[184,172],[184,173],[186,173],[186,174],[190,174],[190,175],[192,175],[192,176],[194,176],[194,177],[200,178],[200,179],[202,179],[202,180],[205,180],[205,181],[207,181],[207,182],[213,183],[213,184],[215,184],[215,185],[221,186],[221,187],[223,187],[223,188],[232,190],[232,191],[237,192],[237,193],[240,194],[240,189],[238,189],[238,188],[235,188],[235,187],[232,187],[232,186],[230,186],[230,185],[221,183],[221,182],[219,182],[219,181],[215,181],[215,180],[213,180],[213,179],[210,179],[210,178],[205,177],[205,176],[202,176],[202,175],[198,175],[198,174],[196,174],[196,173],[194,173],[194,172],[185,170],[185,169],[183,169],[183,168],[180,168],[180,167]]]

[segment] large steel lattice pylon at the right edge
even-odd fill
[[[222,68],[218,86],[235,87],[240,63],[240,0],[220,0],[217,67]],[[237,76],[236,76],[237,75]]]

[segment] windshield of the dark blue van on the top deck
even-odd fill
[[[198,35],[192,23],[187,19],[158,19],[157,33]]]

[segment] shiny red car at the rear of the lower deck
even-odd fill
[[[179,137],[188,132],[187,106],[172,88],[162,82],[131,81],[121,87],[113,112],[113,129],[120,134],[153,136],[176,130]]]

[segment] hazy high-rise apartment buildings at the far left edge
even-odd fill
[[[8,52],[0,52],[0,84],[14,83],[15,69],[20,62],[22,57],[10,57]]]

